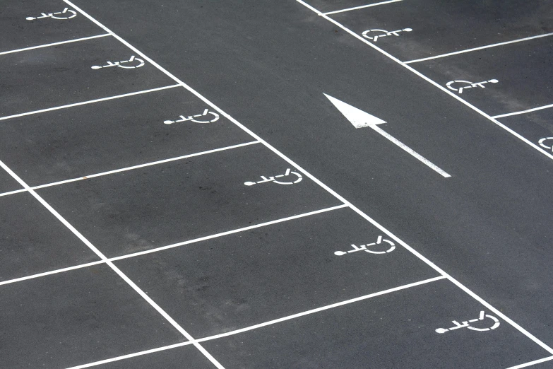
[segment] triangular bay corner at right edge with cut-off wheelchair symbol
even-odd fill
[[[537,144],[542,150],[553,152],[553,107],[497,120]]]

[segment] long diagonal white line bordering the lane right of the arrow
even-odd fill
[[[448,90],[447,88],[445,88],[444,86],[441,86],[439,85],[439,83],[436,83],[434,81],[432,81],[432,79],[428,78],[427,76],[424,76],[424,74],[420,73],[419,71],[413,69],[411,66],[408,66],[407,64],[403,63],[403,61],[400,61],[400,59],[394,57],[392,54],[389,54],[388,52],[385,52],[383,49],[381,49],[380,47],[372,44],[371,42],[369,42],[368,40],[364,39],[364,37],[361,37],[360,35],[357,35],[357,33],[353,32],[352,30],[350,30],[349,28],[345,27],[344,25],[342,25],[341,23],[338,23],[337,21],[334,21],[332,18],[329,18],[328,16],[325,16],[323,13],[321,13],[320,11],[316,10],[316,8],[314,8],[313,6],[310,6],[309,4],[305,3],[303,0],[296,0],[299,4],[302,4],[303,6],[305,6],[306,8],[309,8],[311,9],[311,11],[314,11],[315,13],[319,14],[319,16],[325,18],[327,21],[333,23],[334,25],[336,25],[337,27],[340,27],[342,28],[343,30],[345,30],[345,32],[349,33],[350,35],[352,35],[353,37],[357,38],[357,40],[363,42],[364,44],[366,45],[369,45],[370,47],[372,47],[373,49],[375,49],[377,52],[380,52],[381,54],[383,55],[386,55],[386,57],[392,59],[393,61],[396,61],[396,63],[400,64],[400,66],[403,66],[405,69],[408,69],[409,71],[412,71],[412,73],[416,74],[417,76],[419,76],[420,78],[424,79],[424,81],[427,81],[428,83],[432,84],[433,86],[436,86],[437,88],[439,88],[440,90],[444,91],[444,93],[447,93],[448,95],[450,95],[452,98],[462,102],[464,105],[470,107],[470,109],[474,110],[475,112],[477,112],[478,114],[482,115],[483,117],[489,119],[491,122],[494,122],[494,124],[496,124],[497,126],[501,127],[502,129],[505,129],[506,131],[508,131],[510,134],[512,134],[513,136],[515,136],[517,139],[520,139],[521,141],[525,142],[525,144],[528,144],[530,146],[532,146],[533,148],[535,148],[535,150],[539,151],[540,153],[542,153],[543,155],[549,157],[550,159],[553,159],[553,155],[551,153],[548,153],[547,151],[544,151],[542,150],[539,146],[537,146],[536,144],[534,144],[533,142],[531,141],[528,141],[528,139],[525,139],[523,136],[521,136],[520,134],[516,133],[516,131],[513,131],[512,129],[510,129],[509,127],[506,127],[506,125],[504,124],[501,124],[500,122],[498,122],[496,119],[494,119],[493,117],[487,115],[486,113],[482,112],[482,110],[478,109],[477,107],[475,107],[474,105],[470,104],[470,102],[466,102],[465,100],[463,100],[462,98],[460,98],[458,95],[456,95],[455,93],[451,92],[451,90]]]

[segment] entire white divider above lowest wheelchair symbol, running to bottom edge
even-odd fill
[[[431,283],[431,282],[434,282],[434,281],[439,281],[440,279],[445,279],[445,278],[446,277],[444,277],[444,276],[437,276],[437,277],[434,277],[434,278],[431,278],[431,279],[425,279],[424,281],[419,281],[419,282],[415,282],[415,283],[409,283],[409,284],[406,284],[404,286],[389,288],[388,290],[385,290],[385,291],[371,293],[369,295],[364,295],[364,296],[361,296],[361,297],[358,297],[358,298],[352,298],[350,300],[345,300],[345,301],[342,301],[340,303],[335,303],[335,304],[332,304],[332,305],[326,305],[326,306],[323,306],[323,307],[317,307],[316,309],[307,310],[307,311],[304,311],[304,312],[299,312],[299,313],[294,314],[294,315],[288,315],[287,317],[281,317],[279,319],[270,320],[268,322],[263,322],[263,323],[260,323],[260,324],[251,325],[249,327],[244,327],[244,328],[241,328],[241,329],[236,329],[236,330],[231,331],[231,332],[226,332],[226,333],[222,333],[222,334],[215,334],[214,336],[208,336],[208,337],[204,337],[202,339],[196,339],[194,341],[183,342],[182,344],[174,344],[174,345],[169,345],[169,346],[162,346],[162,347],[158,347],[158,348],[153,348],[151,350],[139,351],[139,352],[136,352],[136,353],[131,353],[129,355],[117,356],[115,358],[109,358],[109,359],[102,360],[102,361],[95,361],[94,363],[88,363],[88,364],[84,364],[84,365],[73,366],[73,367],[67,368],[67,369],[90,368],[91,366],[105,364],[105,363],[111,363],[113,361],[119,361],[119,360],[123,360],[123,359],[126,359],[126,358],[133,358],[135,356],[146,355],[148,353],[155,353],[155,352],[158,352],[158,351],[170,350],[172,348],[177,348],[177,347],[182,347],[182,346],[186,346],[186,345],[189,345],[189,344],[193,344],[194,342],[211,341],[213,339],[220,339],[221,337],[233,336],[234,334],[239,334],[239,333],[242,333],[242,332],[251,331],[253,329],[266,327],[266,326],[271,325],[271,324],[278,324],[280,322],[285,322],[287,320],[292,320],[292,319],[295,319],[297,317],[303,317],[305,315],[313,314],[315,312],[320,312],[320,311],[323,311],[323,310],[332,309],[334,307],[339,307],[339,306],[347,305],[347,304],[350,304],[350,303],[357,303],[357,301],[367,300],[368,298],[374,298],[374,297],[379,296],[379,295],[386,295],[386,293],[392,293],[392,292],[396,292],[396,291],[400,291],[400,290],[405,290],[407,288],[420,286],[422,284]]]

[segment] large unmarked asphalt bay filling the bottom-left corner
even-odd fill
[[[108,266],[0,288],[5,368],[67,368],[184,337]]]

